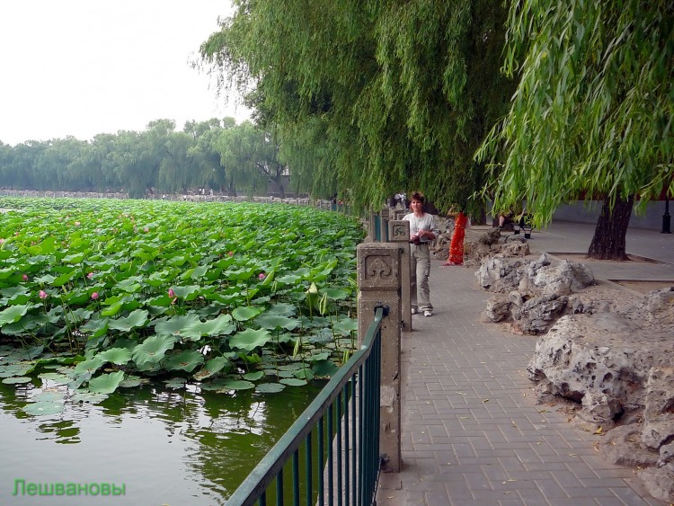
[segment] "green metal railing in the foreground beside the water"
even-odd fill
[[[378,306],[344,364],[227,502],[341,506],[375,502],[379,478],[381,325]]]

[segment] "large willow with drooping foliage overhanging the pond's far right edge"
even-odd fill
[[[507,110],[506,10],[492,0],[235,0],[201,47],[277,132],[295,182],[361,208],[421,190],[465,205]]]

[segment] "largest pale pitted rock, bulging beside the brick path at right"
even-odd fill
[[[588,403],[593,412],[578,412],[589,421],[613,422],[623,412],[641,412],[650,369],[672,363],[674,350],[669,335],[638,331],[620,315],[564,315],[538,339],[528,377],[545,378],[547,391],[576,402],[594,393]],[[607,404],[599,409],[602,399]]]

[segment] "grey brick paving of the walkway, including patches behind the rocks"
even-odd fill
[[[529,244],[583,252],[592,230],[555,226]],[[637,232],[628,234],[628,253],[674,261],[674,236]],[[481,323],[491,294],[477,286],[474,269],[439,265],[430,278],[435,315],[414,315],[414,331],[403,336],[403,472],[382,475],[377,503],[664,504],[631,469],[602,460],[601,436],[572,426],[559,406],[536,403],[526,373],[536,338]],[[601,279],[602,269],[593,270]],[[639,263],[621,275],[674,280],[674,264]]]

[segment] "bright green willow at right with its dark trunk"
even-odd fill
[[[588,255],[627,258],[634,200],[674,194],[673,15],[667,0],[510,5],[504,69],[519,87],[478,153],[504,160],[495,209],[526,200],[544,225],[564,201],[603,200]]]

